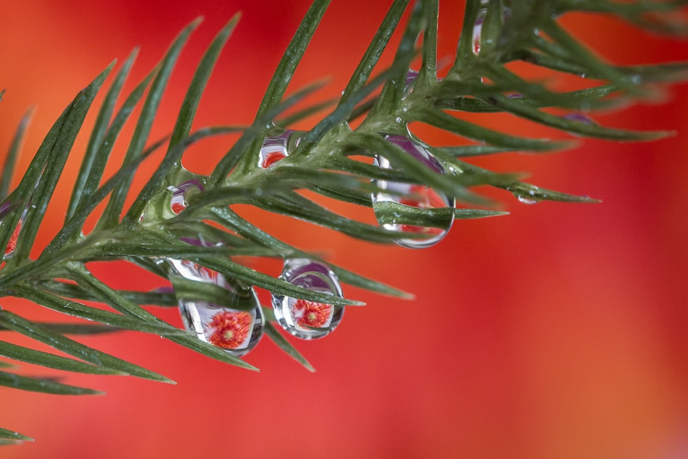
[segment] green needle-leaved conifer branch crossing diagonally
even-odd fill
[[[34,248],[45,209],[72,151],[74,139],[82,129],[85,116],[92,110],[92,101],[114,64],[109,65],[76,95],[48,131],[19,186],[8,193],[30,112],[21,121],[17,135],[12,140],[0,178],[0,198],[4,199],[0,208],[0,246],[8,246],[20,222],[21,230],[14,251],[6,254],[0,270],[0,296],[23,298],[92,323],[34,323],[14,312],[0,310],[1,332],[23,334],[79,360],[5,341],[0,341],[0,356],[10,361],[70,372],[129,374],[171,383],[164,376],[65,336],[136,330],[158,334],[213,359],[255,370],[224,350],[164,323],[142,307],[176,306],[181,298],[222,304],[226,301],[224,290],[183,279],[173,281],[176,295],[117,290],[107,286],[88,269],[87,263],[96,260],[130,261],[167,278],[167,271],[155,260],[187,259],[215,270],[227,279],[264,288],[278,295],[348,306],[363,304],[294,286],[233,260],[231,257],[237,255],[320,259],[281,242],[244,220],[233,210],[236,204],[249,204],[359,239],[389,243],[398,239],[398,231],[339,215],[305,198],[299,191],[310,190],[328,198],[371,208],[372,193],[380,191],[378,181],[391,180],[429,186],[463,204],[470,204],[459,209],[416,209],[387,202],[376,209],[380,224],[394,222],[428,227],[442,227],[448,219],[451,221],[453,218],[503,215],[502,212],[489,209],[493,202],[471,190],[479,185],[505,189],[528,200],[595,202],[585,196],[542,189],[522,182],[519,175],[493,173],[467,161],[472,156],[508,151],[563,149],[570,147],[572,142],[504,134],[458,118],[453,112],[507,113],[577,136],[609,140],[638,141],[667,136],[670,133],[663,131],[635,132],[603,127],[594,122],[557,116],[546,110],[556,108],[578,113],[627,104],[636,98],[652,96],[647,83],[676,81],[684,78],[688,70],[688,65],[682,63],[634,67],[610,65],[563,30],[557,18],[570,11],[608,12],[654,32],[678,34],[685,32],[685,25],[660,19],[668,17],[669,12],[685,3],[617,3],[605,0],[528,0],[512,3],[508,0],[468,0],[455,61],[449,72],[443,78],[438,78],[438,0],[413,3],[405,29],[398,32],[401,40],[393,63],[388,68],[379,68],[380,56],[387,49],[390,37],[400,27],[401,18],[409,8],[408,0],[396,0],[361,63],[354,70],[341,98],[334,103],[303,106],[303,98],[319,89],[320,85],[305,87],[288,98],[284,98],[284,94],[329,4],[327,0],[314,0],[272,76],[252,124],[243,127],[206,127],[192,133],[191,125],[204,87],[222,47],[239,20],[237,15],[220,30],[197,66],[171,136],[155,142],[151,142],[149,134],[160,98],[182,48],[199,21],[180,33],[158,66],[124,98],[121,108],[115,113],[114,107],[136,59],[135,50],[114,76],[100,106],[72,189],[65,224],[35,259],[30,257],[30,252]],[[473,40],[473,27],[477,20],[482,21],[479,52]],[[417,46],[418,36],[422,36],[420,47]],[[419,57],[418,77],[411,88],[407,74]],[[514,61],[525,61],[548,70],[577,75],[588,81],[589,87],[574,92],[554,92],[542,83],[528,81],[508,70],[506,64]],[[514,98],[513,94],[519,94],[519,97]],[[129,120],[132,110],[139,105],[142,107],[133,135],[129,140],[120,138],[122,127]],[[285,111],[294,106],[298,107],[296,114],[285,116]],[[288,157],[272,167],[259,167],[258,152],[272,129],[287,127],[291,122],[323,109],[330,111],[303,135]],[[359,118],[363,119],[358,127],[352,129],[349,123]],[[410,122],[420,122],[451,132],[463,140],[462,145],[456,147],[427,145],[427,149],[449,173],[436,173],[424,167],[381,135],[396,134],[413,138],[408,128]],[[189,200],[184,211],[173,217],[155,211],[155,206],[163,199],[161,190],[164,184],[180,173],[182,154],[190,145],[208,136],[237,132],[241,133],[240,138],[217,162],[213,173],[204,178],[204,189]],[[120,169],[104,181],[103,171],[117,141],[127,142],[127,153]],[[125,198],[132,192],[133,173],[142,160],[161,147],[166,148],[166,153],[158,169],[138,192],[136,200],[125,209]],[[361,157],[378,156],[389,160],[393,168],[381,169],[370,164],[370,161],[361,160]],[[103,213],[97,215],[95,229],[84,234],[87,217],[105,200],[107,205]],[[476,206],[479,208],[474,209]],[[142,220],[140,217],[144,212],[146,218]],[[182,240],[198,235],[217,240],[222,246],[195,246]],[[404,237],[412,239],[424,236],[409,233]],[[410,297],[394,287],[344,268],[331,268],[345,284],[383,295]],[[111,310],[86,306],[86,301],[98,301]],[[250,308],[248,303],[243,306],[233,303],[232,306]],[[293,359],[313,371],[310,363],[270,323],[275,319],[272,310],[267,308],[265,314],[268,319],[267,336]],[[4,362],[0,362],[0,365],[8,366]],[[52,394],[97,393],[92,389],[57,383],[50,378],[20,376],[13,372],[16,370],[14,366],[8,367],[8,370],[0,372],[0,385]],[[8,442],[30,440],[5,429],[0,429],[0,438]]]

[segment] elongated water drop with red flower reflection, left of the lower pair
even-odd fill
[[[207,301],[180,298],[179,311],[184,328],[198,339],[222,348],[233,356],[244,356],[263,336],[265,318],[253,288],[229,281],[224,275],[189,260],[169,259],[172,276],[214,284],[227,290],[230,304],[241,309],[219,306]],[[174,284],[174,280],[172,280]]]

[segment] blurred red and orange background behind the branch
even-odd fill
[[[195,127],[250,122],[308,3],[6,2],[0,28],[0,87],[7,89],[0,104],[0,147],[6,150],[23,112],[35,106],[23,170],[63,107],[112,58],[121,62],[141,45],[125,88],[130,90],[175,34],[203,14],[162,102],[153,138],[164,136],[204,47],[239,10],[243,17]],[[330,77],[319,97],[338,94],[389,3],[334,0],[290,90]],[[441,8],[440,56],[450,56],[462,2],[443,1]],[[617,63],[688,56],[685,42],[658,39],[604,17],[564,20]],[[493,193],[511,215],[458,221],[442,244],[427,250],[372,246],[255,214],[277,235],[326,250],[334,263],[405,288],[416,301],[345,288],[369,306],[349,308],[330,337],[297,343],[317,368],[314,374],[267,339],[247,357],[261,368],[255,373],[154,336],[84,338],[178,385],[67,375],[65,382],[90,385],[107,396],[0,388],[0,425],[36,438],[3,447],[0,456],[688,457],[688,86],[667,94],[660,105],[597,119],[615,127],[676,129],[673,138],[636,145],[585,140],[559,155],[480,161],[499,171],[531,171],[531,180],[541,186],[592,195],[603,204],[526,206],[508,193]],[[548,134],[499,119],[510,132]],[[444,136],[435,140],[451,142]],[[228,142],[208,142],[185,161],[207,171]],[[77,157],[84,145],[80,138]],[[59,191],[65,200],[78,158],[69,164]],[[65,202],[50,209],[40,244],[57,231],[61,205]],[[274,263],[258,266],[279,273]],[[155,286],[154,279],[133,270],[95,268],[119,288]],[[265,292],[261,299],[267,301]],[[2,306],[41,317],[10,299]],[[180,324],[175,310],[159,312]]]

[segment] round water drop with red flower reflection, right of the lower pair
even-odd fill
[[[279,278],[312,292],[342,297],[341,285],[332,270],[308,258],[286,259]],[[330,334],[344,315],[344,306],[275,294],[272,295],[272,308],[277,323],[301,339],[322,338]]]

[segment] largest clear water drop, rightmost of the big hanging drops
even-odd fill
[[[429,167],[429,169],[438,173],[445,173],[442,164],[440,164],[440,162],[419,142],[405,136],[396,135],[385,136],[385,140],[401,147],[404,151],[413,156],[413,158],[416,158],[416,160],[422,162],[426,167]],[[391,169],[389,160],[383,156],[376,156],[375,162],[378,167]],[[427,235],[427,237],[422,239],[400,237],[400,239],[394,240],[396,244],[408,248],[425,248],[437,244],[447,235],[454,222],[453,213],[451,213],[451,216],[447,217],[439,227],[397,224],[396,222],[389,222],[383,219],[383,213],[385,211],[385,203],[387,202],[396,202],[418,209],[440,209],[444,207],[453,208],[455,205],[454,198],[449,198],[449,196],[444,193],[438,193],[438,191],[435,191],[429,186],[418,184],[389,182],[387,180],[378,180],[376,184],[381,189],[391,192],[387,193],[385,191],[380,191],[372,195],[373,211],[383,228],[391,231],[399,231],[400,233],[405,232]]]

